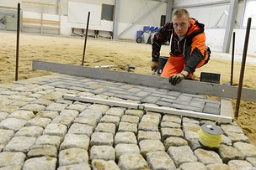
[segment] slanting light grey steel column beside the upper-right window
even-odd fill
[[[230,49],[230,42],[232,38],[232,31],[235,25],[236,15],[238,9],[238,0],[231,0],[229,10],[228,10],[228,17],[227,17],[227,26],[225,30],[225,37],[222,45],[222,52],[229,53]]]

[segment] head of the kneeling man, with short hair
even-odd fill
[[[189,29],[189,12],[186,9],[177,9],[173,13],[173,27],[179,37],[183,37]]]

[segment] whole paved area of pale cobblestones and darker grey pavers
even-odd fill
[[[205,96],[71,75],[0,85],[0,169],[256,169],[256,147],[236,123],[217,152],[200,147],[197,131],[212,121],[79,101],[77,94],[209,114]],[[182,126],[180,126],[182,123]]]

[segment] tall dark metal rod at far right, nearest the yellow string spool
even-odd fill
[[[241,94],[242,94],[243,75],[244,75],[244,68],[245,68],[246,55],[247,55],[247,49],[248,49],[248,40],[249,40],[249,34],[251,29],[251,22],[252,22],[252,18],[248,18],[244,46],[243,46],[243,59],[241,64],[239,85],[238,85],[238,91],[237,91],[237,102],[236,102],[236,111],[235,111],[236,118],[238,118],[239,106],[240,106],[240,100],[241,100]]]

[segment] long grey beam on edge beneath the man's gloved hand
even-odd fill
[[[69,64],[56,64],[51,62],[36,61],[32,63],[34,70],[52,71],[67,75],[77,75],[100,80],[113,80],[134,85],[145,85],[161,89],[177,90],[185,93],[216,95],[224,98],[237,98],[237,87],[219,85],[192,80],[182,80],[178,85],[171,85],[168,78],[152,75],[140,75],[127,72],[104,70],[98,68],[82,67]],[[242,100],[256,101],[256,90],[243,88]]]

